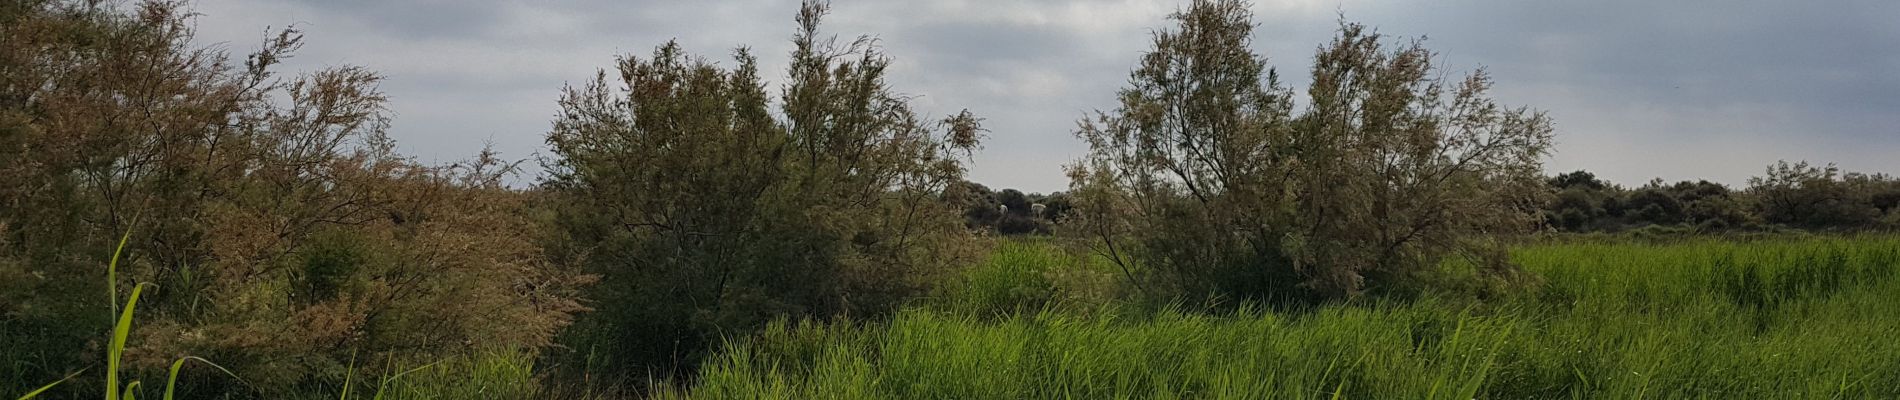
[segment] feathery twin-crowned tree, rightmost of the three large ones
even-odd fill
[[[1081,121],[1091,154],[1072,167],[1083,231],[1144,286],[1341,298],[1446,254],[1495,260],[1484,235],[1537,222],[1550,121],[1490,100],[1484,72],[1448,82],[1419,42],[1341,25],[1296,116],[1250,53],[1244,2],[1172,19],[1121,106]]]

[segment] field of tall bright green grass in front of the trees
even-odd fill
[[[1541,282],[1189,313],[1104,296],[1113,271],[1051,243],[1005,243],[887,322],[773,324],[663,396],[1900,396],[1900,237],[1592,239],[1512,256]]]

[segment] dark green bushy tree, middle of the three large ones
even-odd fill
[[[806,2],[777,112],[756,59],[733,68],[665,44],[560,99],[542,188],[549,246],[602,275],[570,347],[676,373],[722,336],[777,317],[876,317],[960,262],[969,112],[923,121],[868,38],[819,36]]]

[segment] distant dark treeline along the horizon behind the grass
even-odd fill
[[[1834,165],[1780,161],[1742,188],[1708,180],[1661,178],[1628,188],[1590,171],[1548,178],[1543,203],[1547,231],[1619,233],[1666,229],[1723,231],[1868,231],[1900,227],[1900,178],[1849,173]],[[998,235],[1049,235],[1074,209],[1064,191],[1022,193],[965,182],[958,201],[971,229]]]

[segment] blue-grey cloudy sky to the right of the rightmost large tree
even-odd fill
[[[1775,159],[1896,171],[1892,2],[1408,2],[1341,6],[1429,34],[1452,66],[1558,121],[1552,169],[1742,184]]]

